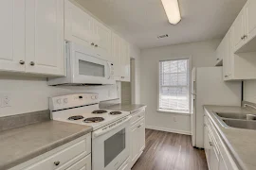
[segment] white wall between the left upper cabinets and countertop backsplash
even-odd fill
[[[99,93],[101,100],[114,99],[119,96],[116,85],[51,87],[47,86],[46,78],[0,76],[0,95],[9,94],[11,104],[11,107],[0,108],[0,116],[47,110],[49,96],[69,93]]]

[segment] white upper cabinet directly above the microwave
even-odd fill
[[[90,46],[101,59],[111,57],[111,30],[69,0],[64,1],[64,39]]]

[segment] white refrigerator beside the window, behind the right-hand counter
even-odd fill
[[[222,67],[192,69],[192,145],[204,147],[204,105],[241,106],[242,82],[224,81]]]

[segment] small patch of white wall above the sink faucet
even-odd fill
[[[244,101],[256,103],[256,80],[244,81]]]

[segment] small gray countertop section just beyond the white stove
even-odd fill
[[[123,111],[136,111],[142,108],[145,108],[146,105],[137,105],[137,104],[116,104],[108,107],[104,107],[105,110],[123,110]]]

